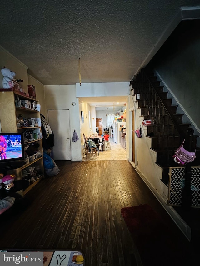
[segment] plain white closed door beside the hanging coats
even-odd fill
[[[69,110],[48,110],[48,120],[55,138],[54,160],[70,161]]]

